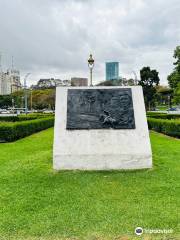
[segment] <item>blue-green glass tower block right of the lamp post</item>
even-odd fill
[[[119,79],[119,63],[107,62],[106,63],[106,80],[118,80]]]

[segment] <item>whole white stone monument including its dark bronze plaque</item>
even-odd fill
[[[152,167],[142,88],[57,87],[53,167]]]

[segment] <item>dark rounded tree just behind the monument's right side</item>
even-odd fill
[[[138,82],[138,85],[141,85],[144,93],[144,100],[146,108],[155,105],[156,97],[156,86],[159,85],[159,76],[156,70],[151,70],[150,67],[143,67],[140,70],[141,80]]]

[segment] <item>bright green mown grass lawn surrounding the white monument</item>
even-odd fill
[[[53,171],[53,129],[0,144],[0,239],[180,239],[180,140],[151,142],[153,169],[109,172]]]

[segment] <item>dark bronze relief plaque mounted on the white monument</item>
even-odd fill
[[[135,129],[131,89],[68,89],[66,128]]]

